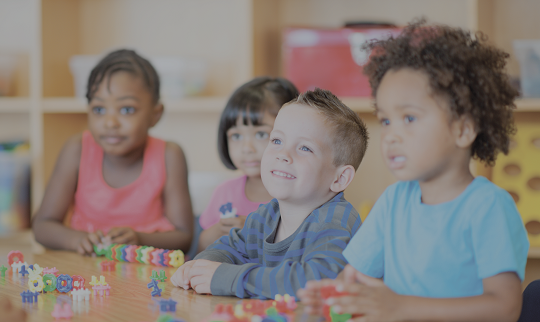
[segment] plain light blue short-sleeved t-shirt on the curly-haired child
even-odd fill
[[[529,241],[514,200],[477,177],[454,200],[426,205],[417,181],[386,189],[343,255],[358,271],[403,295],[465,297],[482,279],[523,281]]]

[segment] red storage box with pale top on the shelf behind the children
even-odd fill
[[[315,87],[337,96],[371,96],[362,65],[369,53],[361,50],[371,39],[397,36],[400,28],[288,28],[284,32],[285,77],[300,92]]]

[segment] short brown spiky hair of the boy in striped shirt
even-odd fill
[[[355,112],[330,91],[320,88],[300,94],[284,107],[291,104],[317,109],[332,130],[334,165],[352,165],[358,170],[366,154],[369,134],[366,125]]]

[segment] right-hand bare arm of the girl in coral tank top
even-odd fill
[[[193,211],[188,189],[188,171],[184,152],[176,143],[165,148],[167,180],[163,190],[165,216],[176,228],[156,233],[135,232],[118,227],[109,232],[113,243],[135,243],[164,249],[189,250],[193,237]]]

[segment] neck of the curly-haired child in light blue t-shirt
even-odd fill
[[[469,160],[459,166],[446,169],[444,172],[426,180],[419,180],[422,191],[422,203],[435,205],[457,198],[474,180],[469,168]]]

